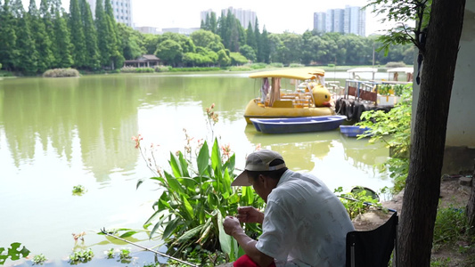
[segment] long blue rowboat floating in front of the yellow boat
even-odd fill
[[[250,118],[258,132],[265,134],[294,134],[307,132],[331,131],[345,121],[346,116],[317,116],[317,117],[280,117],[280,118]]]

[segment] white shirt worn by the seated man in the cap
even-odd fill
[[[344,266],[355,228],[340,199],[311,174],[287,170],[267,197],[256,247],[277,266]]]

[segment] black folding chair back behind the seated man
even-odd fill
[[[350,231],[347,234],[346,267],[387,267],[394,250],[397,254],[397,212],[372,231]]]

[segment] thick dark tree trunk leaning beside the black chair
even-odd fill
[[[465,0],[433,0],[422,83],[415,113],[409,174],[398,235],[398,266],[430,266],[440,193],[446,122]]]

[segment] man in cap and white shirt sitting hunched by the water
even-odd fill
[[[345,265],[353,223],[340,199],[315,176],[292,172],[277,152],[258,150],[232,185],[252,186],[266,202],[265,213],[242,206],[237,218],[225,218],[225,232],[246,253],[234,266]],[[251,239],[241,223],[262,223],[262,235]]]

